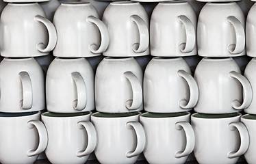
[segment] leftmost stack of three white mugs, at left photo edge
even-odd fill
[[[48,140],[44,73],[34,57],[48,55],[57,37],[36,0],[8,2],[0,19],[0,162],[34,163]]]

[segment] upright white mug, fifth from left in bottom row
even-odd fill
[[[191,116],[194,156],[199,163],[236,163],[248,149],[249,136],[240,113]]]

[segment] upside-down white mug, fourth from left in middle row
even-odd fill
[[[144,72],[143,96],[145,111],[182,112],[196,105],[199,88],[181,57],[154,57]]]

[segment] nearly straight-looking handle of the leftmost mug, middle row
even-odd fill
[[[25,71],[18,73],[21,79],[23,100],[20,101],[21,109],[31,109],[33,103],[32,82],[29,74]]]

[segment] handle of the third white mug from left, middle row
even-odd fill
[[[133,94],[132,100],[127,100],[125,102],[125,107],[129,110],[139,109],[142,105],[142,87],[138,77],[136,77],[133,72],[127,71],[124,73],[126,79],[128,79],[131,84],[131,90]]]

